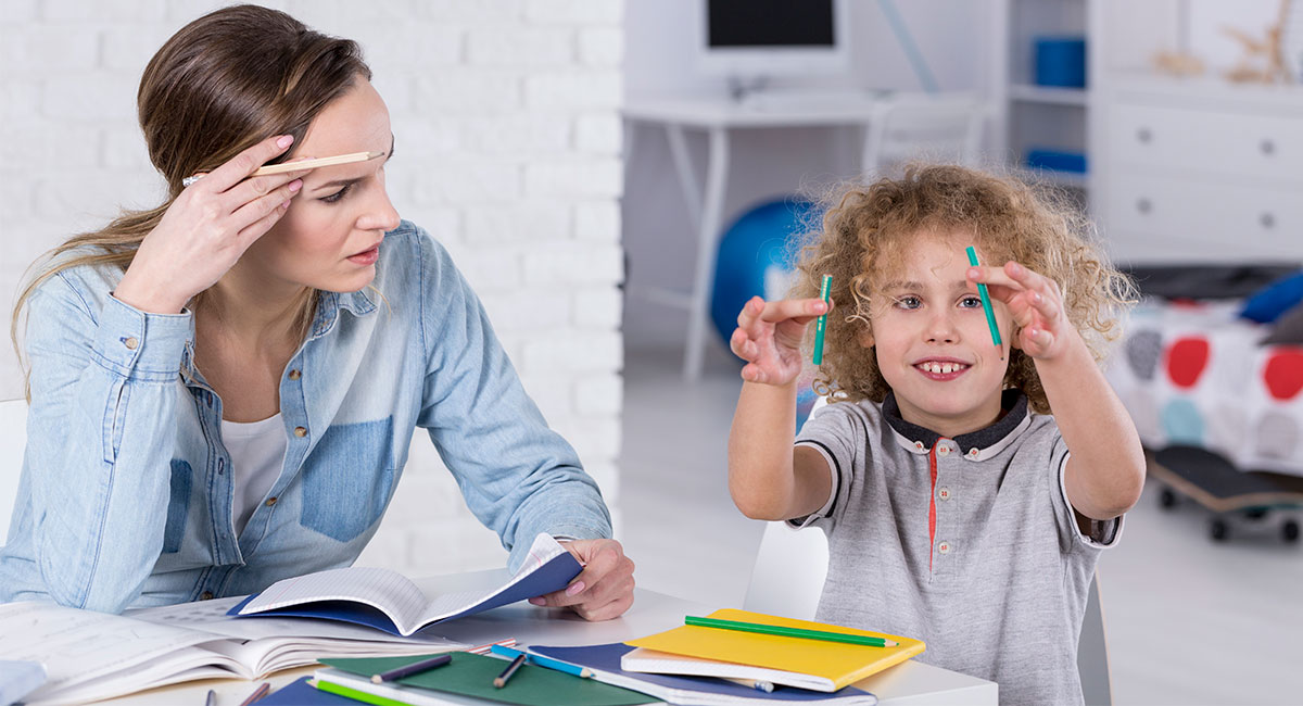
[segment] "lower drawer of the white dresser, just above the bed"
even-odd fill
[[[1213,245],[1233,259],[1303,254],[1303,198],[1298,190],[1115,173],[1108,197],[1110,232]]]

